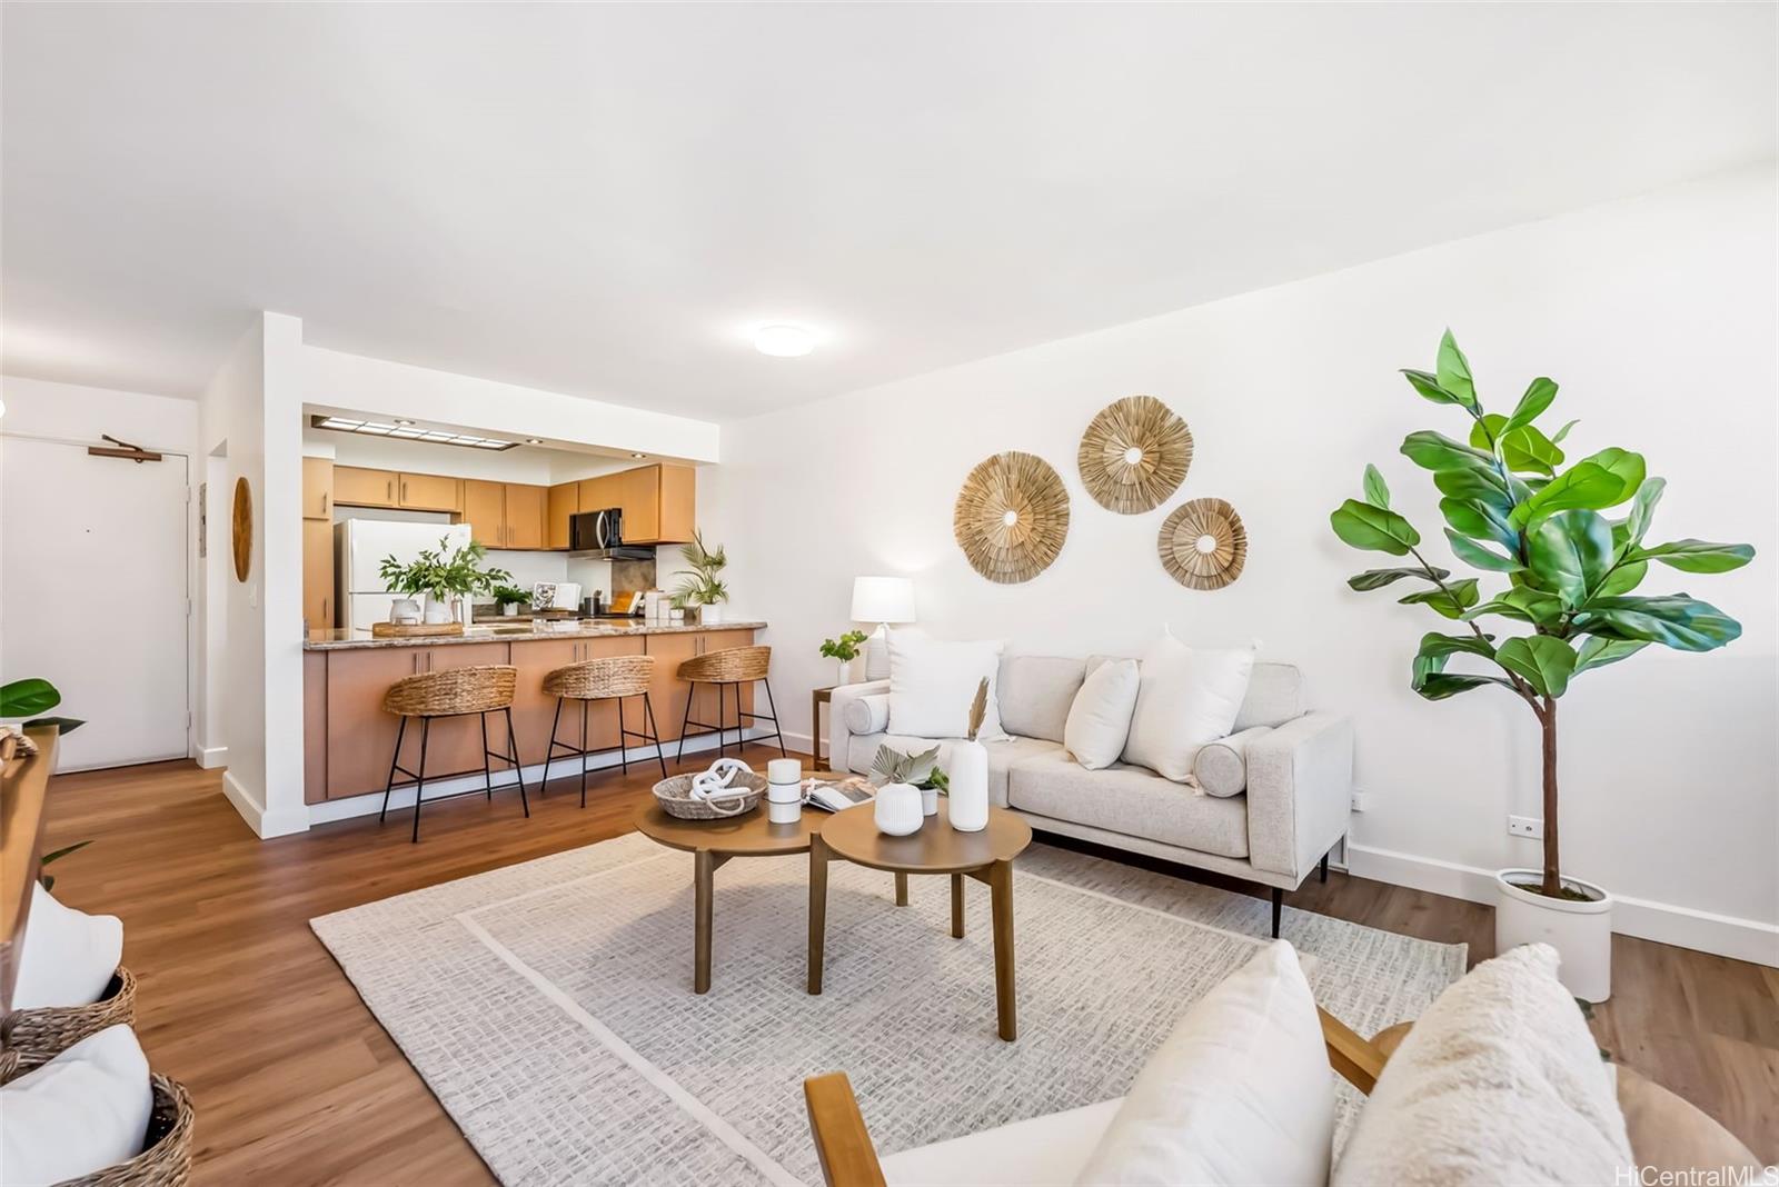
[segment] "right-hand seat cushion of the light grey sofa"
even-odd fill
[[[1201,796],[1140,766],[1089,771],[1060,746],[1014,764],[1007,801],[1021,812],[1073,825],[1199,853],[1247,856],[1247,796]]]

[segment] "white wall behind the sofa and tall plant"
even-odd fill
[[[1357,784],[1375,793],[1354,817],[1356,869],[1480,894],[1477,871],[1537,858],[1505,833],[1507,814],[1539,814],[1533,720],[1487,691],[1414,697],[1409,659],[1441,620],[1347,590],[1386,562],[1327,526],[1372,460],[1445,554],[1432,483],[1397,446],[1466,425],[1397,368],[1430,368],[1450,325],[1487,403],[1505,410],[1551,375],[1555,412],[1582,418],[1573,455],[1647,455],[1670,483],[1660,538],[1759,549],[1727,576],[1651,574],[1647,592],[1706,597],[1745,634],[1576,682],[1562,826],[1566,867],[1633,899],[1624,929],[1779,963],[1774,208],[1770,169],[1720,176],[724,425],[724,466],[699,492],[706,531],[729,546],[737,611],[772,622],[797,734],[799,689],[833,679],[817,645],[849,625],[854,574],[911,574],[925,625],[1026,652],[1137,652],[1162,622],[1208,645],[1258,636],[1302,665],[1315,705],[1356,718]],[[1135,393],[1185,416],[1197,451],[1174,499],[1123,517],[1085,494],[1075,451],[1094,412]],[[1000,450],[1044,457],[1071,496],[1060,558],[1018,586],[975,576],[952,540],[959,483]],[[1229,499],[1247,524],[1247,570],[1228,590],[1188,592],[1156,560],[1162,519],[1195,496]]]

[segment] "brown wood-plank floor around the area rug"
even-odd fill
[[[512,793],[429,805],[418,846],[406,816],[262,842],[221,771],[162,762],[59,777],[48,846],[94,839],[53,867],[57,896],[125,920],[142,1045],[196,1100],[199,1183],[486,1183],[308,920],[630,832],[651,784],[642,769],[601,775],[582,810],[573,782],[553,782],[528,821]],[[1487,908],[1420,890],[1336,872],[1286,903],[1462,940],[1473,961],[1493,951]],[[1619,936],[1594,1031],[1779,1160],[1779,970]]]

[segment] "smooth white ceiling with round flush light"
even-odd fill
[[[1774,16],[5,4],[4,368],[190,394],[274,309],[745,416],[1768,158]]]

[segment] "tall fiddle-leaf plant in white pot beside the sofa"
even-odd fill
[[[1686,594],[1631,592],[1647,576],[1649,562],[1715,574],[1749,563],[1754,549],[1690,538],[1647,544],[1663,480],[1646,476],[1642,455],[1621,448],[1564,469],[1560,442],[1574,421],[1551,435],[1537,426],[1557,396],[1550,378],[1532,380],[1510,414],[1484,412],[1469,361],[1450,331],[1434,371],[1404,375],[1421,398],[1455,407],[1471,421],[1468,441],[1416,432],[1402,442],[1402,453],[1432,471],[1457,560],[1501,574],[1507,588],[1485,595],[1477,578],[1453,578],[1429,563],[1421,535],[1389,508],[1375,466],[1364,467],[1364,499],[1347,499],[1331,515],[1334,535],[1357,549],[1413,556],[1414,563],[1372,569],[1347,585],[1379,590],[1402,579],[1421,583],[1425,588],[1398,601],[1462,624],[1450,634],[1421,636],[1411,681],[1416,693],[1445,700],[1473,688],[1500,688],[1532,711],[1542,741],[1544,864],[1496,874],[1496,949],[1553,944],[1569,992],[1599,1002],[1612,992],[1612,896],[1562,871],[1557,702],[1583,672],[1649,643],[1704,652],[1742,634],[1735,618]],[[1621,519],[1603,514],[1621,506]],[[1480,663],[1484,672],[1446,672],[1453,656]]]

